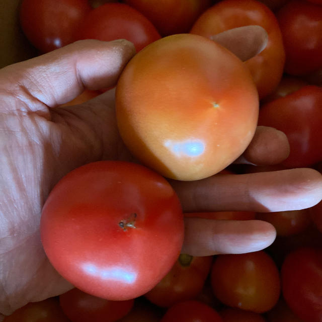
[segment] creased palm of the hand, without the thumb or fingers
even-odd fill
[[[2,114],[3,134],[15,133],[10,141],[3,137],[7,153],[1,155],[5,182],[1,190],[8,204],[0,254],[0,272],[7,276],[0,292],[0,301],[7,303],[1,308],[5,313],[22,302],[41,300],[72,287],[54,270],[41,246],[40,214],[52,187],[67,172],[86,163],[130,160],[117,131],[113,92],[104,95],[104,102],[97,98],[88,105],[52,110],[32,98],[26,104],[17,97],[8,95],[4,103],[19,110]]]

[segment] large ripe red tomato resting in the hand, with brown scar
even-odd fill
[[[155,286],[177,260],[183,230],[170,184],[121,161],[67,174],[41,217],[42,243],[56,270],[75,287],[109,300],[135,298]]]

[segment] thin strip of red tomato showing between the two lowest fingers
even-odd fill
[[[256,213],[253,211],[215,211],[215,212],[188,212],[184,213],[188,218],[205,218],[214,220],[252,220]]]

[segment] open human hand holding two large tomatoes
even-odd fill
[[[234,37],[228,34],[228,43]],[[10,314],[27,302],[72,288],[42,249],[42,206],[53,186],[74,168],[102,159],[134,159],[118,134],[113,91],[81,105],[59,106],[85,88],[115,85],[133,55],[127,41],[90,40],[0,70],[0,312]],[[283,133],[260,128],[244,158],[274,164],[287,153]],[[311,169],[172,184],[185,211],[291,210],[310,207],[322,196],[321,175]],[[187,218],[183,250],[194,255],[243,253],[261,250],[274,238],[275,229],[263,221]]]

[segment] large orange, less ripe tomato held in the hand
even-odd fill
[[[172,35],[127,64],[116,87],[116,116],[123,141],[144,164],[165,177],[197,180],[249,145],[258,95],[230,51],[198,35]]]

